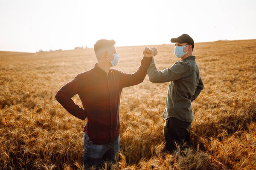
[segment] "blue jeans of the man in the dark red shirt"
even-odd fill
[[[111,144],[94,144],[84,132],[84,167],[94,167],[98,169],[102,161],[108,161],[113,164],[116,163],[116,159],[119,151],[119,136]]]

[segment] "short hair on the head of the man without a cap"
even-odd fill
[[[116,42],[114,40],[98,40],[94,44],[94,52],[96,54],[97,59],[99,60],[100,57],[102,57],[102,53],[115,44]]]

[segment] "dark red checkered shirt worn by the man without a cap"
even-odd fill
[[[143,82],[151,59],[143,57],[134,74],[110,69],[108,75],[97,64],[78,74],[55,95],[57,101],[73,116],[89,122],[84,131],[95,144],[112,143],[119,136],[119,104],[122,88]],[[78,94],[83,108],[72,97]]]

